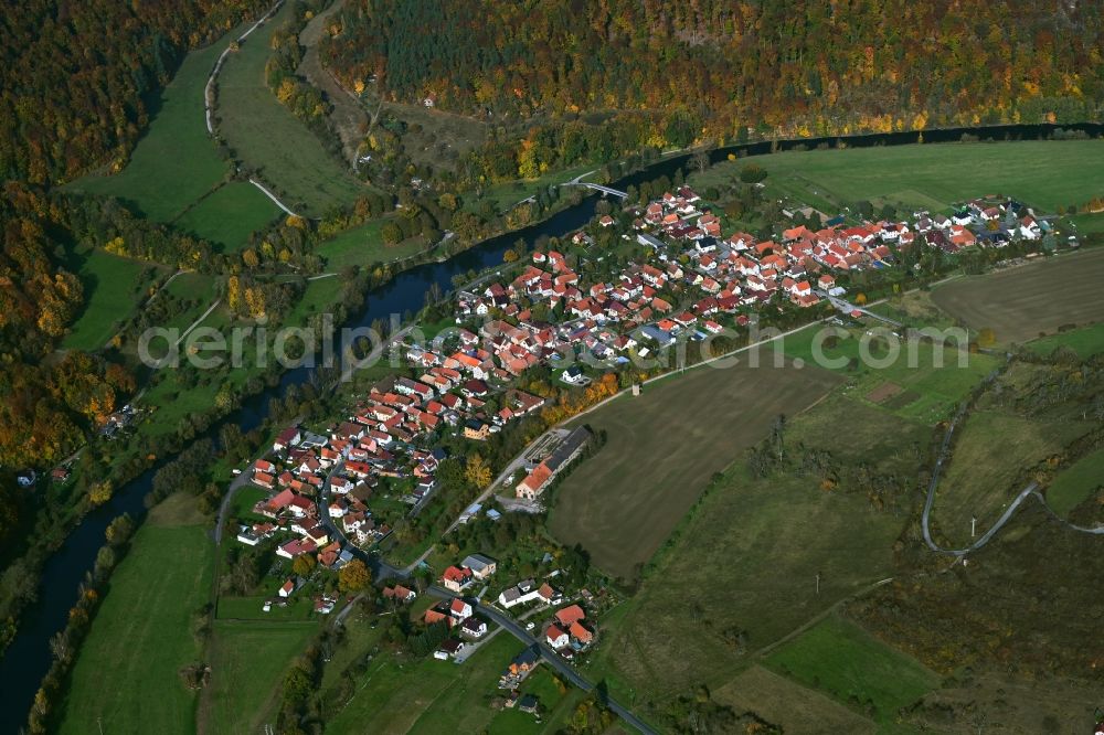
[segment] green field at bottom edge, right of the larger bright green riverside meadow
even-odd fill
[[[215,621],[200,732],[259,733],[275,722],[266,715],[278,703],[284,674],[317,631],[316,622]]]

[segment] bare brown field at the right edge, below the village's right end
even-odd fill
[[[963,278],[932,291],[932,300],[972,329],[992,329],[998,342],[1026,342],[1062,324],[1104,319],[1100,283],[1104,251],[1048,258]]]

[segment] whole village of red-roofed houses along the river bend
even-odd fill
[[[428,552],[405,569],[380,557],[395,526],[433,502],[438,467],[459,454],[457,441],[493,441],[549,405],[549,397],[519,387],[523,376],[543,370],[561,388],[582,391],[679,341],[734,338],[782,308],[824,311],[829,301],[838,308],[856,273],[894,267],[902,249],[1001,247],[1039,239],[1047,228],[1021,204],[979,200],[952,216],[919,212],[910,222],[852,226],[837,220],[760,241],[723,234],[721,220],[688,187],[629,213],[639,216],[617,238],[617,253],[595,252],[594,233],[616,224],[608,214],[571,237],[570,254],[533,251],[520,273],[459,290],[452,323],[432,340],[402,342],[403,374],[375,382],[346,416],[317,433],[298,425],[279,433],[241,478],[263,497],[252,507],[257,520],[236,536],[243,546],[274,547],[280,560],[266,612],[308,596],[315,614],[329,615],[341,595],[326,571],[340,574],[358,562],[384,569],[376,579],[382,598],[417,605],[418,624],[439,631],[433,656],[442,661],[463,663],[506,626],[524,625],[534,642],[502,672],[500,686],[510,692],[506,706],[538,713],[539,702],[519,688],[541,661],[585,661],[598,645],[597,612],[605,607],[595,595],[558,587],[555,568],[539,578],[499,579],[497,561],[481,553],[454,560],[421,586],[408,579],[427,569]],[[859,295],[848,298],[862,303]],[[541,511],[542,496],[592,439],[585,428],[542,435],[492,483],[497,494],[468,507],[450,529]],[[433,599],[418,601],[424,595]]]

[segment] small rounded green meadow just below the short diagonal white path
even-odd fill
[[[250,235],[283,214],[270,199],[246,181],[231,181],[198,202],[178,228],[211,242],[222,253],[244,249]]]

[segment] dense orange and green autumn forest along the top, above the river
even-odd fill
[[[350,89],[490,120],[654,111],[640,145],[1095,119],[1098,2],[351,0]]]

